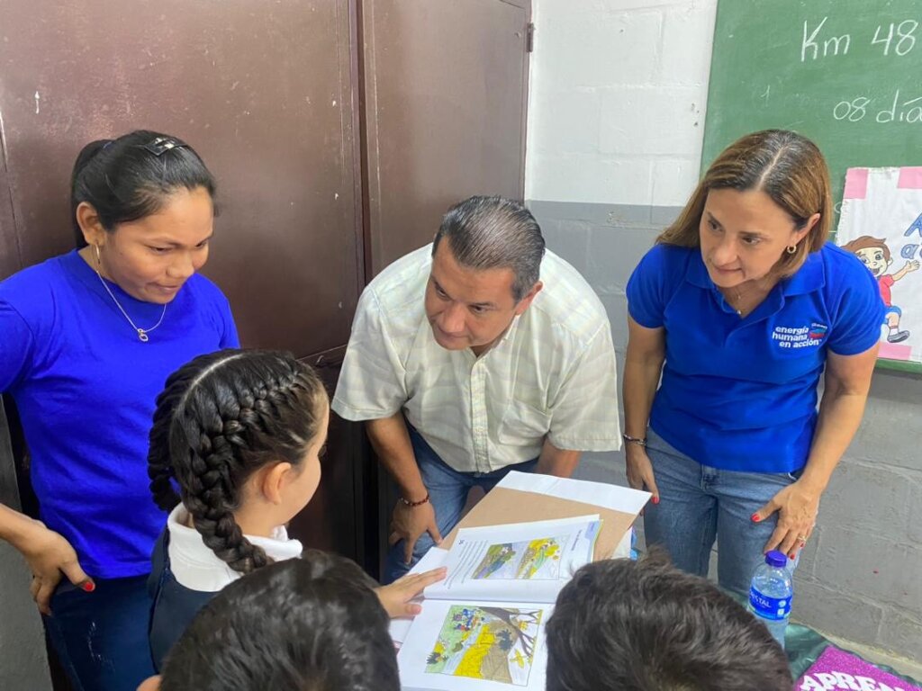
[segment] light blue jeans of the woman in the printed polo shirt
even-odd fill
[[[777,513],[759,523],[751,516],[797,476],[711,468],[669,446],[652,429],[646,451],[659,489],[659,504],[644,509],[647,546],[662,545],[677,567],[707,576],[716,539],[718,583],[748,596],[752,572],[764,561],[765,543],[778,522]]]

